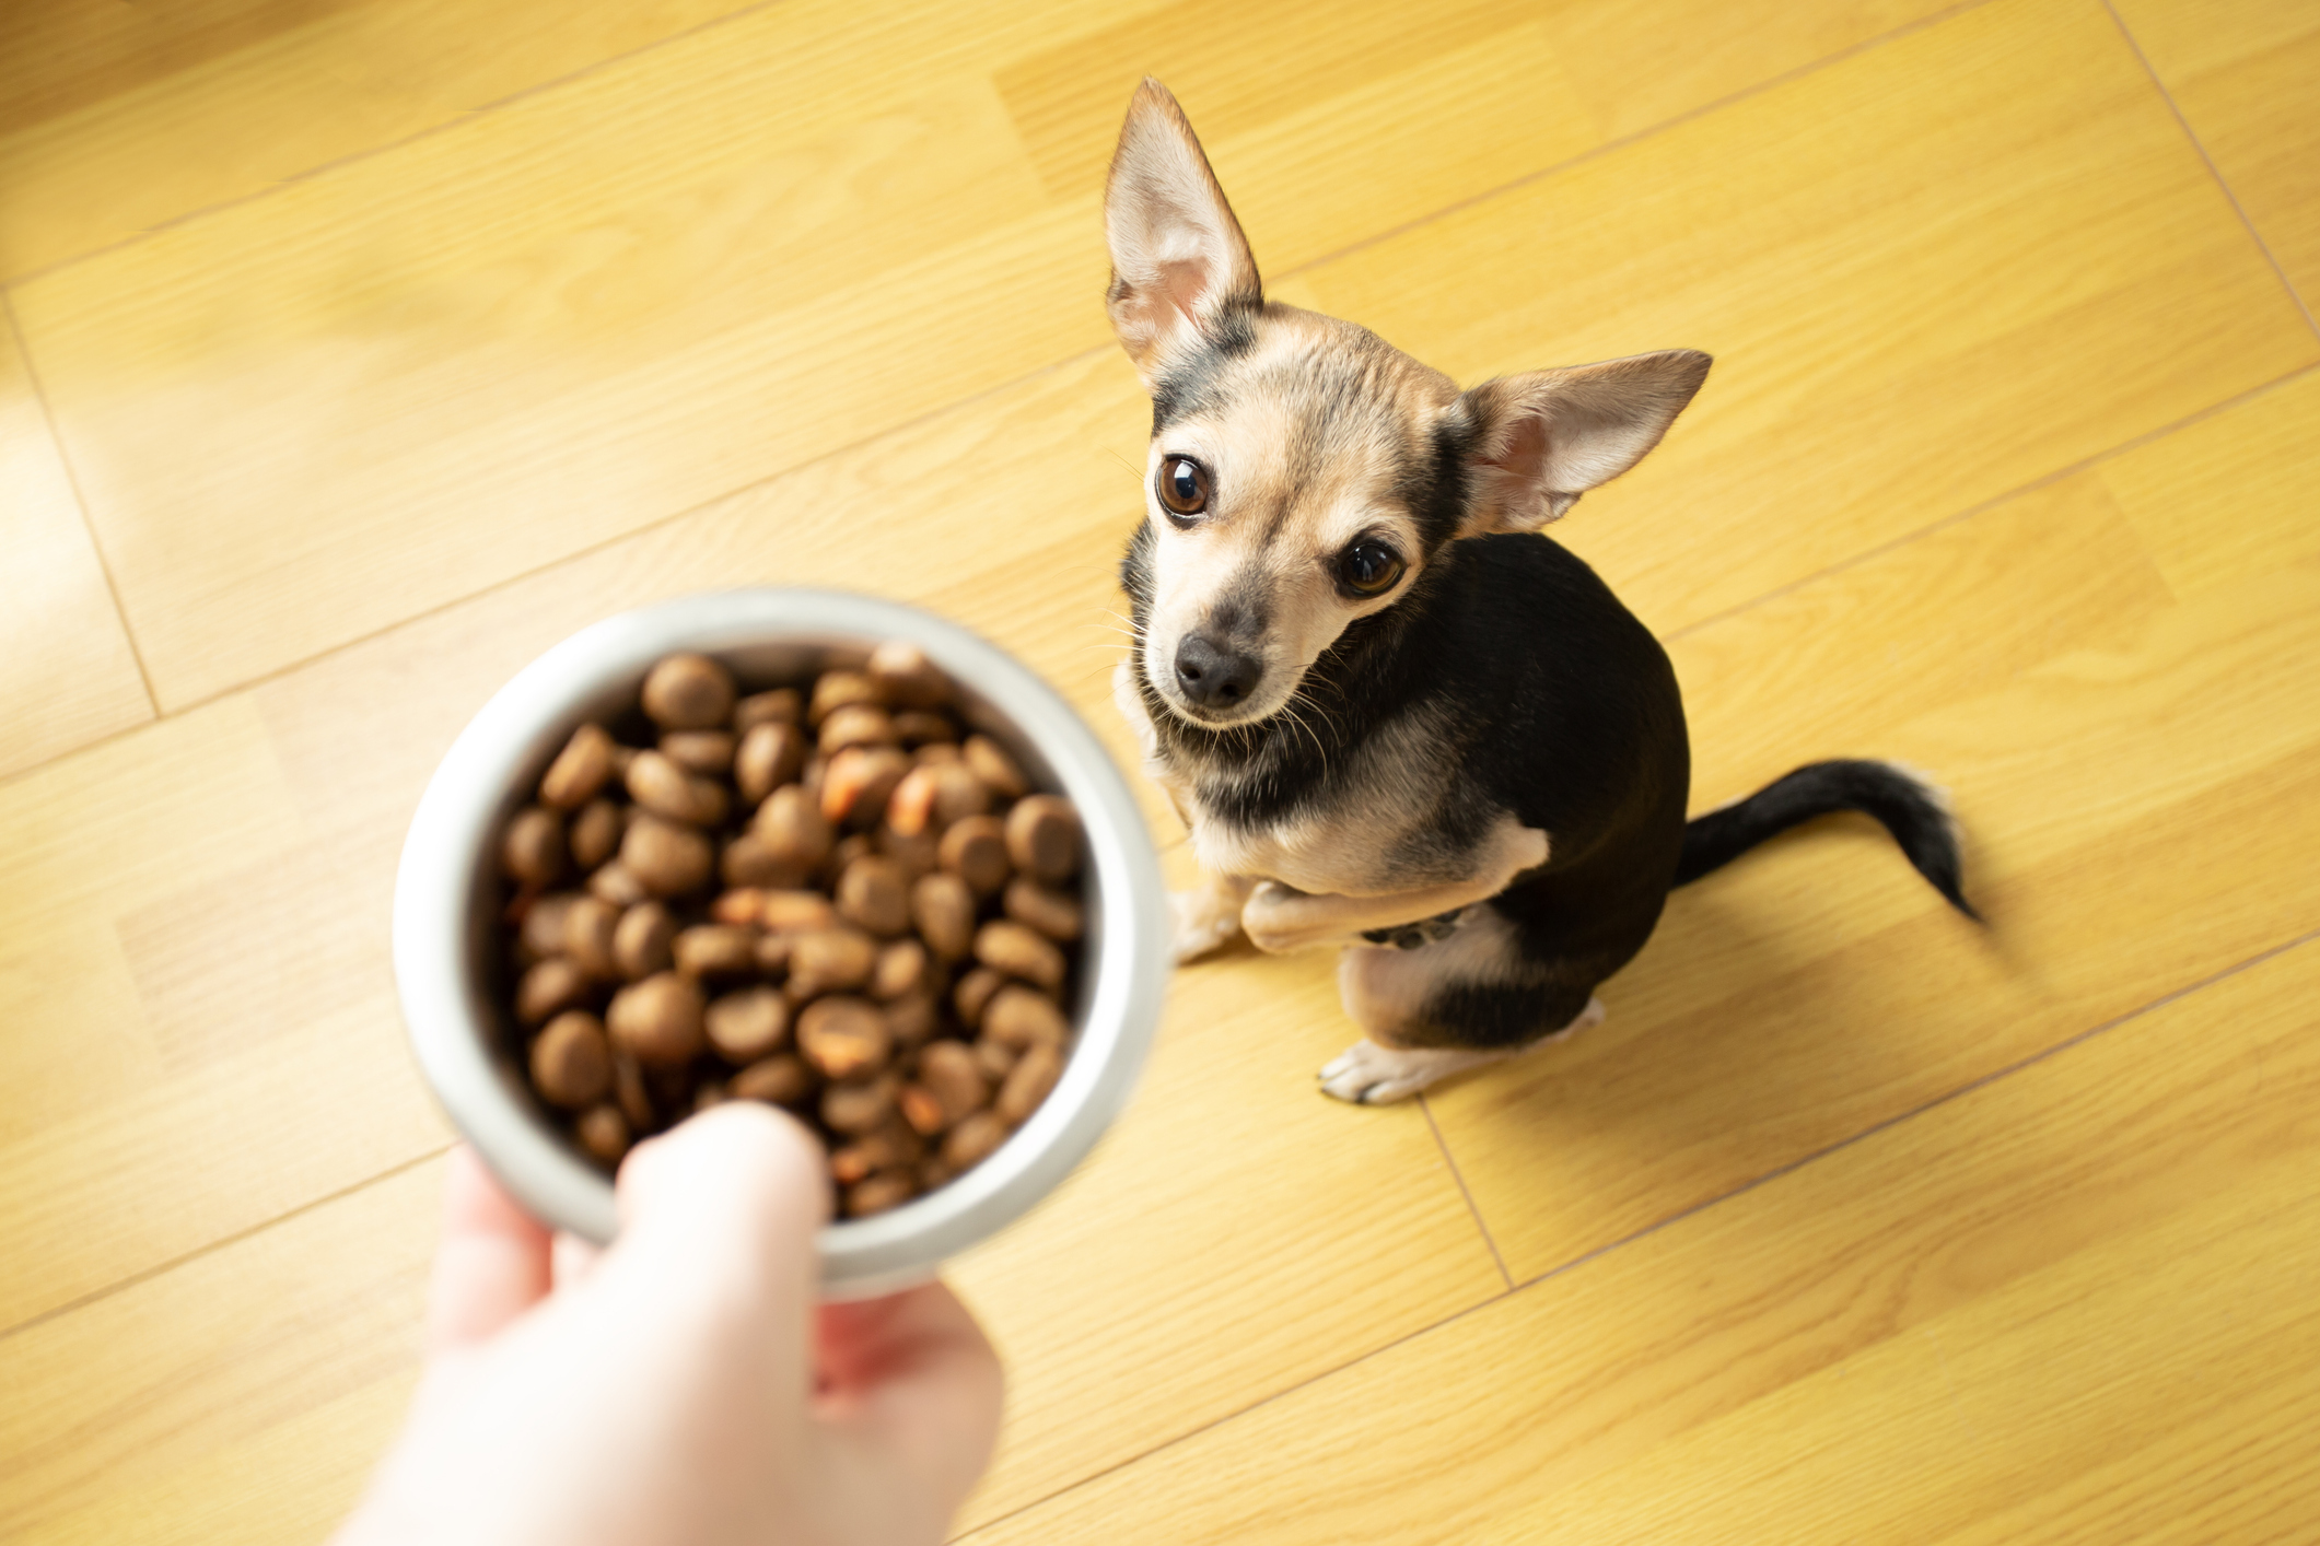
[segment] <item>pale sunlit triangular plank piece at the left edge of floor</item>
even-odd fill
[[[0,322],[0,776],[153,719],[23,350]]]

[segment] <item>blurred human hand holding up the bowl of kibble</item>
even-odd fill
[[[942,1284],[817,1307],[812,1138],[733,1101],[617,1196],[619,1240],[552,1284],[548,1231],[452,1152],[427,1372],[336,1546],[940,1541],[1000,1365]]]

